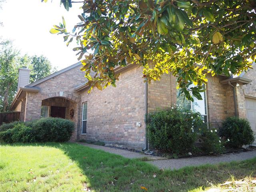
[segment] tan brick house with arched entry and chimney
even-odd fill
[[[22,121],[60,117],[75,123],[72,140],[144,148],[145,114],[175,104],[199,111],[205,122],[218,128],[228,116],[248,118],[256,132],[256,71],[239,77],[208,76],[204,100],[194,103],[177,98],[176,77],[164,74],[160,81],[143,82],[142,67],[117,68],[116,88],[94,88],[88,94],[80,62],[29,84],[29,70],[19,70],[18,92],[11,110],[20,111]],[[235,91],[234,91],[235,90]]]

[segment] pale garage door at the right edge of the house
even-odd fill
[[[251,128],[256,133],[256,99],[245,99],[246,118],[250,121]],[[256,140],[254,140],[256,143]]]

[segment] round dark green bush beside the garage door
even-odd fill
[[[232,148],[252,144],[254,141],[254,133],[250,122],[247,119],[238,117],[228,117],[222,122],[220,136],[228,139],[229,141],[226,142],[226,145]]]

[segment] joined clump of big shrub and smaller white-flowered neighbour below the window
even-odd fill
[[[224,146],[216,130],[208,129],[198,112],[171,108],[148,114],[147,137],[151,147],[172,154],[221,154]],[[196,146],[196,141],[200,146]]]

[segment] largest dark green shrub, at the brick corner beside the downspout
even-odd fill
[[[198,112],[178,108],[148,114],[146,122],[147,137],[152,147],[175,154],[194,149],[198,137],[196,130],[204,124]]]

